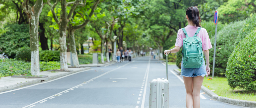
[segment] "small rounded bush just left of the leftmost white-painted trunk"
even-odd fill
[[[31,50],[29,47],[20,48],[16,53],[16,59],[23,61],[31,61]]]

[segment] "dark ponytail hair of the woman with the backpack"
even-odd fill
[[[187,17],[189,18],[189,20],[192,20],[193,23],[197,26],[197,27],[202,27],[200,25],[201,23],[201,18],[199,16],[199,10],[197,8],[197,6],[195,7],[189,7],[187,8],[187,11],[186,11],[186,15]]]

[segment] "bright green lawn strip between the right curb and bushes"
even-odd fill
[[[238,88],[232,90],[228,85],[227,78],[214,77],[212,80],[207,80],[205,77],[203,85],[219,96],[239,100],[256,101],[256,91],[243,91],[243,89]]]

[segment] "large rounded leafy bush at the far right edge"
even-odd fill
[[[234,49],[227,63],[226,77],[232,89],[256,91],[256,30],[247,35]]]

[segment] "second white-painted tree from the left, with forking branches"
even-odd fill
[[[48,5],[51,6],[51,12],[54,21],[57,23],[59,27],[59,45],[60,45],[60,63],[61,63],[61,70],[68,70],[67,67],[67,45],[66,45],[66,32],[67,32],[67,25],[70,21],[70,18],[77,7],[77,5],[84,5],[81,0],[75,0],[71,2],[66,2],[66,0],[61,0],[61,12],[58,14],[55,13],[55,6],[59,0],[56,0],[55,3],[52,5],[50,0],[48,1]],[[85,1],[86,2],[86,1]],[[72,6],[71,6],[72,5]],[[67,6],[71,6],[69,13],[67,14]]]

